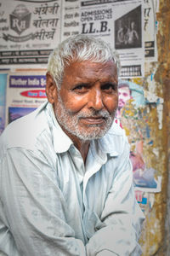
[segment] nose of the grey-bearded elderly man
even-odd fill
[[[101,89],[94,88],[91,90],[88,97],[88,108],[94,108],[95,110],[101,110],[104,108]]]

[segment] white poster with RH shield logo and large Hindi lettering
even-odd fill
[[[46,67],[60,42],[61,0],[0,0],[0,68]]]

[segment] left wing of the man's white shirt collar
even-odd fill
[[[54,115],[54,108],[51,103],[48,103],[47,109],[52,122],[54,150],[56,153],[66,152],[71,147],[73,142],[71,141],[70,137],[65,134],[65,131],[62,130],[61,126],[57,122]]]

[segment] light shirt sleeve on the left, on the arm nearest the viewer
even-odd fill
[[[86,255],[83,242],[66,223],[65,198],[46,177],[53,171],[47,161],[10,148],[0,165],[0,251],[8,256]]]

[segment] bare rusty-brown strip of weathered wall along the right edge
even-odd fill
[[[144,244],[144,255],[170,255],[169,250],[169,216],[167,214],[167,189],[168,189],[168,151],[169,151],[169,97],[170,97],[170,2],[160,1],[157,14],[158,34],[158,67],[155,74],[156,95],[164,99],[162,129],[153,131],[154,141],[159,154],[156,160],[157,169],[161,173],[161,193],[155,195],[155,204],[148,214],[144,231],[148,239]],[[156,123],[155,123],[156,125]],[[157,126],[157,125],[156,125]],[[167,217],[167,222],[165,219]],[[144,236],[143,236],[144,239]]]

